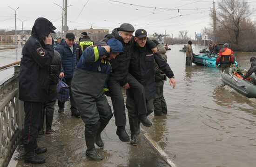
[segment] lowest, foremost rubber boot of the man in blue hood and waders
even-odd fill
[[[103,157],[97,152],[94,146],[95,137],[86,137],[85,142],[87,146],[86,155],[92,160],[102,160]]]

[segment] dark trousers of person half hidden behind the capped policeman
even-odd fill
[[[156,94],[154,98],[154,114],[161,116],[167,114],[167,105],[163,96],[163,85],[155,87]]]

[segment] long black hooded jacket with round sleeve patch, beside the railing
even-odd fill
[[[52,32],[47,19],[36,20],[32,36],[23,46],[20,61],[19,99],[27,102],[45,102],[48,96],[50,71],[54,57],[52,45],[44,45],[44,39]]]

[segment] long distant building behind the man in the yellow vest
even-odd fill
[[[109,30],[108,29],[93,29],[93,28],[86,29],[86,30],[78,30],[75,28],[74,30],[68,30],[67,32],[74,33],[75,41],[78,41],[78,39],[81,37],[82,32],[87,32],[90,39],[92,39],[94,42],[96,42],[96,41],[104,38],[105,35],[108,34]]]

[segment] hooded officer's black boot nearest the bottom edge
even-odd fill
[[[24,148],[25,148],[24,161],[25,161],[26,163],[34,163],[34,164],[45,163],[45,158],[39,157],[39,156],[34,152],[33,143],[24,144]]]

